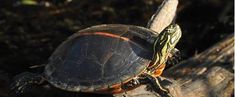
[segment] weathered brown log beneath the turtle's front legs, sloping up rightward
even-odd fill
[[[233,78],[234,37],[228,36],[208,50],[166,70],[164,77],[174,80],[165,85],[174,97],[231,97]],[[157,93],[141,86],[116,97],[156,97]]]

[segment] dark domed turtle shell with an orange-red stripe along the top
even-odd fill
[[[153,31],[132,25],[108,24],[81,30],[51,55],[45,78],[67,91],[93,92],[124,83],[151,62]]]

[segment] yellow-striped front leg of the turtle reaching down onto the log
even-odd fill
[[[172,97],[168,89],[165,89],[161,86],[159,80],[160,77],[155,77],[154,75],[146,74],[146,78],[149,80],[152,89],[159,93],[163,97]]]

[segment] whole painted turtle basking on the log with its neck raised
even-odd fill
[[[117,94],[129,91],[148,79],[157,81],[180,37],[177,24],[169,25],[159,35],[135,25],[91,26],[60,44],[43,73],[17,75],[11,89],[21,94],[30,85],[46,81],[72,92]]]

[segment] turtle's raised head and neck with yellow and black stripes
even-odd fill
[[[181,29],[177,24],[169,25],[159,34],[154,42],[154,55],[150,67],[157,67],[166,62],[169,53],[180,40],[181,34]]]

